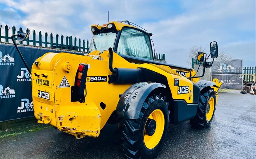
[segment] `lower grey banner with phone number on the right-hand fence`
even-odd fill
[[[229,75],[212,75],[212,79],[217,78],[219,82],[223,82],[222,88],[243,89],[243,78],[239,74]]]

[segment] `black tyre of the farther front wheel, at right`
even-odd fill
[[[207,119],[207,113],[209,113],[209,109],[210,109],[209,100],[211,98],[213,98],[214,100],[213,114],[211,119]],[[215,109],[216,109],[216,95],[214,90],[212,88],[203,90],[202,92],[200,92],[200,95],[199,95],[197,114],[193,119],[190,120],[190,124],[200,129],[208,128],[212,123]]]

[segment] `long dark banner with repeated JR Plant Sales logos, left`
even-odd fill
[[[19,49],[30,68],[45,53],[60,52],[41,47],[19,46]],[[0,121],[31,116],[34,116],[31,74],[14,45],[0,44]]]

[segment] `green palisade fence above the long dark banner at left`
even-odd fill
[[[10,30],[10,27],[8,27],[8,25],[6,25],[4,27],[4,30],[5,30],[5,35],[1,35],[1,29],[2,29],[2,25],[0,25],[0,42],[6,42],[8,43],[9,40],[11,39],[11,35],[9,34],[9,30]],[[23,32],[23,28],[20,27],[19,28],[19,31],[22,31]],[[26,32],[30,32],[29,29],[26,29]],[[16,34],[16,27],[13,26],[12,27],[12,34]],[[76,51],[83,51],[83,52],[88,52],[88,49],[89,49],[89,41],[87,40],[85,42],[85,40],[81,40],[79,38],[78,40],[78,46],[77,46],[77,38],[75,37],[74,38],[74,41],[73,41],[73,37],[70,36],[66,36],[66,44],[63,44],[63,39],[64,39],[64,36],[61,35],[60,36],[60,43],[59,43],[59,35],[56,34],[55,35],[55,43],[53,42],[53,38],[54,38],[54,35],[53,33],[50,34],[50,42],[48,42],[48,33],[45,32],[44,33],[44,41],[42,41],[42,32],[39,31],[38,33],[38,40],[36,40],[36,34],[37,32],[35,30],[32,31],[32,36],[30,35],[30,38],[32,37],[32,40],[28,37],[24,43],[26,43],[27,45],[30,45],[32,43],[32,45],[34,46],[45,46],[45,47],[51,47],[51,48],[61,48],[61,49],[67,49],[67,50],[76,50]],[[4,41],[2,41],[2,39],[5,39]],[[15,38],[15,40],[17,40]],[[82,43],[82,45],[81,45]],[[86,43],[86,44],[85,44]],[[20,44],[23,44],[23,42],[20,42]],[[86,46],[86,47],[85,47]]]

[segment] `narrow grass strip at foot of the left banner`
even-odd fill
[[[1,130],[0,131],[0,139],[6,138],[9,136],[16,136],[27,132],[39,131],[42,129],[52,128],[51,125],[42,125],[42,124],[29,124],[25,126],[19,126],[11,129]]]

